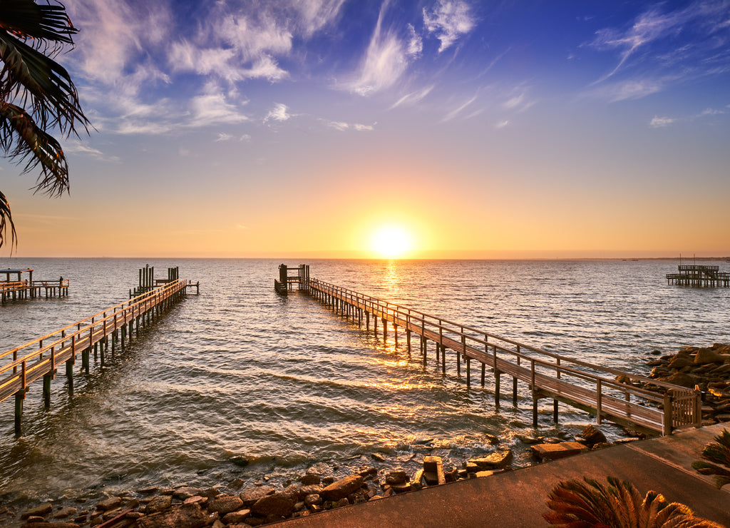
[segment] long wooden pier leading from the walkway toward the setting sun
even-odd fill
[[[303,284],[310,295],[331,306],[337,313],[363,323],[369,331],[371,319],[374,332],[377,324],[383,328],[383,340],[388,338],[388,325],[398,342],[398,331],[405,333],[410,353],[414,337],[426,367],[428,345],[435,345],[435,360],[446,373],[447,351],[456,353],[456,371],[466,364],[466,386],[471,386],[472,361],[481,367],[481,384],[485,370],[494,375],[495,405],[502,398],[502,375],[512,378],[512,404],[518,402],[518,381],[527,383],[532,399],[533,426],[537,428],[538,401],[553,399],[553,420],[558,421],[558,402],[585,410],[603,420],[646,432],[650,435],[670,435],[676,429],[699,426],[702,417],[699,390],[663,383],[561,356],[540,348],[518,343],[489,332],[429,315],[410,307],[358,293],[347,288],[308,278]],[[639,386],[650,383],[666,391],[650,391]]]

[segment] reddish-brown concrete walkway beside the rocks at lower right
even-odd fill
[[[691,429],[539,464],[472,478],[313,516],[283,521],[282,528],[315,527],[542,527],[545,501],[558,482],[583,476],[606,483],[612,475],[683,502],[698,516],[730,528],[730,485],[718,490],[691,464],[704,445],[730,424]]]

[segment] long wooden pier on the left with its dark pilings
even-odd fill
[[[51,334],[0,353],[0,402],[15,396],[15,430],[20,432],[23,400],[31,383],[43,380],[43,399],[50,407],[50,385],[61,365],[66,367],[69,391],[73,392],[74,364],[81,358],[81,368],[89,374],[91,352],[104,367],[105,353],[111,345],[112,355],[122,351],[133,334],[151,324],[175,302],[183,299],[186,288],[197,286],[185,280],[172,280],[128,302],[107,308],[91,317],[69,324]]]

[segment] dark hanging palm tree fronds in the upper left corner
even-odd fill
[[[69,189],[69,167],[61,144],[47,130],[88,131],[88,119],[69,73],[54,58],[73,46],[77,33],[63,4],[0,0],[0,148],[39,168],[34,190],[58,196]],[[0,247],[17,244],[7,196],[0,191]]]

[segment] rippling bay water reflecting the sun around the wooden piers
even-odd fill
[[[314,464],[335,476],[361,464],[413,472],[423,455],[445,467],[493,448],[497,435],[530,463],[516,435],[570,436],[595,417],[541,401],[539,429],[520,389],[496,410],[493,378],[466,389],[456,364],[426,368],[404,339],[382,335],[299,291],[274,293],[269,259],[4,259],[34,279],[70,280],[69,295],[0,306],[0,351],[128,299],[138,269],[180,267],[188,296],[91,375],[74,394],[59,370],[50,410],[31,386],[23,432],[0,404],[0,503],[104,497],[150,486],[207,487],[242,478],[283,485]],[[299,261],[287,261],[289,266]],[[311,276],[527,345],[646,374],[651,351],[730,343],[730,289],[668,286],[677,261],[309,260]],[[726,270],[730,264],[721,263]],[[93,356],[92,356],[93,357]],[[507,389],[502,389],[507,393]],[[602,426],[610,439],[622,434]],[[374,462],[380,454],[385,462]],[[231,462],[249,461],[246,467]]]

